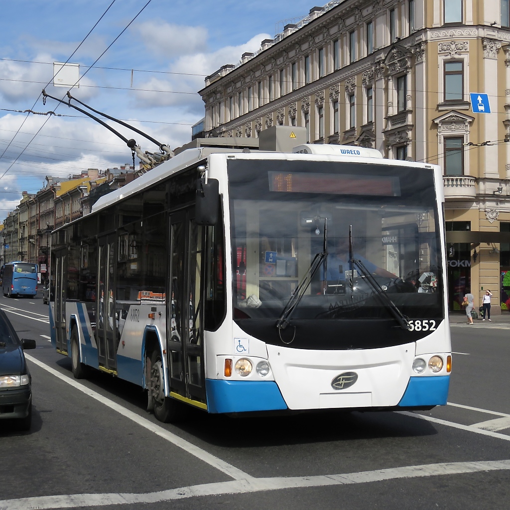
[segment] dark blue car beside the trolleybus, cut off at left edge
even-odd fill
[[[20,430],[32,423],[32,376],[23,349],[35,346],[35,340],[19,340],[0,310],[0,420],[12,420]]]

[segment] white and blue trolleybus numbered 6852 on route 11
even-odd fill
[[[447,401],[443,181],[374,149],[188,149],[52,235],[52,344],[209,413]]]

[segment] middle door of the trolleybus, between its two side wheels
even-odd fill
[[[115,317],[115,236],[99,239],[97,271],[97,321],[96,342],[99,369],[116,373],[117,371],[117,324]]]

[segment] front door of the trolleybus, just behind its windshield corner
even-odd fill
[[[187,399],[205,403],[203,297],[201,274],[203,227],[192,209],[170,216],[170,274],[167,300],[167,356],[170,388]]]

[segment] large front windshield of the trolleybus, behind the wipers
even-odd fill
[[[404,315],[444,316],[431,169],[239,160],[228,177],[240,323],[281,318],[324,245],[293,320],[393,318],[360,268]]]

